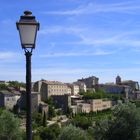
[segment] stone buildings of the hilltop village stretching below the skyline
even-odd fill
[[[19,84],[17,87],[1,81],[0,107],[13,109],[16,106],[18,111],[25,109],[25,95],[25,85]],[[120,76],[116,77],[115,83],[105,84],[100,84],[99,78],[91,76],[78,79],[73,83],[42,79],[32,83],[31,96],[32,112],[41,110],[48,115],[47,101],[52,99],[56,109],[64,113],[71,109],[73,114],[77,114],[102,111],[111,108],[118,102],[137,100],[140,98],[140,90],[137,81],[123,81]]]

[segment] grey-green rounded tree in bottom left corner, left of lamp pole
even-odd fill
[[[19,119],[6,110],[0,115],[0,139],[22,140]]]

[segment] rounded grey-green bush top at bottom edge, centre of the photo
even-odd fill
[[[91,140],[86,131],[75,126],[69,125],[63,128],[58,140]]]

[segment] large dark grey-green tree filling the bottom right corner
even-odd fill
[[[97,140],[137,140],[140,134],[140,113],[132,103],[115,106],[111,118],[96,122]]]

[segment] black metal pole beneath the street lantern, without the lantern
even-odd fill
[[[25,51],[26,56],[26,140],[32,140],[31,115],[31,56],[32,52]]]

